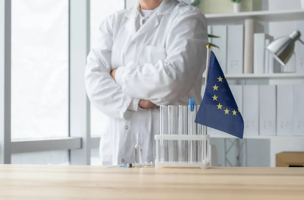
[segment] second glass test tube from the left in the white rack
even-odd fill
[[[178,134],[178,106],[168,106],[168,122],[169,122],[169,135]],[[178,161],[178,141],[169,140],[168,144],[169,162]]]

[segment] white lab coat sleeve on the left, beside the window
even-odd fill
[[[127,119],[131,115],[130,110],[138,109],[139,100],[124,94],[110,75],[115,18],[115,15],[109,16],[99,27],[99,42],[87,57],[85,84],[93,106],[111,118]]]

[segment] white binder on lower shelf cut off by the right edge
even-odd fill
[[[304,136],[304,85],[294,85],[294,126],[295,135]]]

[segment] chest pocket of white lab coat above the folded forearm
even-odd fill
[[[164,61],[167,57],[166,49],[163,47],[145,46],[141,50],[138,64],[156,64],[159,60]]]

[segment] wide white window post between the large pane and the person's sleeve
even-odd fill
[[[69,136],[82,138],[70,150],[70,165],[90,165],[90,101],[84,81],[90,50],[90,0],[69,0]]]

